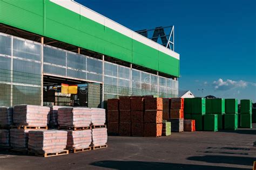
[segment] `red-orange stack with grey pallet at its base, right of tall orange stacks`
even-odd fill
[[[172,132],[183,132],[184,98],[171,98],[170,117]]]

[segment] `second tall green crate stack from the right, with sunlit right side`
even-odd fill
[[[237,130],[238,128],[238,100],[228,98],[225,100],[224,129]]]

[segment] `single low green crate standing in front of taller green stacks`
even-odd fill
[[[218,131],[218,115],[206,114],[204,115],[204,131]]]

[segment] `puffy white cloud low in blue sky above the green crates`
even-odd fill
[[[233,80],[226,80],[219,79],[212,83],[215,90],[230,90],[234,88],[246,88],[248,84],[252,86],[256,86],[256,83],[246,82],[243,80],[240,81],[233,81]],[[239,91],[240,93],[240,91]]]

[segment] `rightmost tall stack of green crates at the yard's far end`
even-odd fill
[[[252,101],[241,100],[241,128],[252,128]]]

